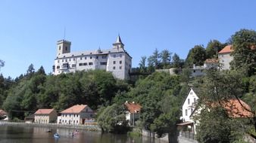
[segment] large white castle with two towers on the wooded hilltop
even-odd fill
[[[124,44],[118,35],[113,47],[108,50],[92,50],[70,52],[71,42],[61,40],[57,42],[57,56],[53,66],[53,74],[75,71],[101,69],[110,71],[115,78],[130,79],[132,57],[124,50]]]

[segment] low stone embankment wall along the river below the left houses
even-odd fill
[[[0,121],[0,126],[39,126],[48,128],[83,129],[87,131],[101,132],[101,128],[96,125],[64,125],[57,123],[19,123]]]

